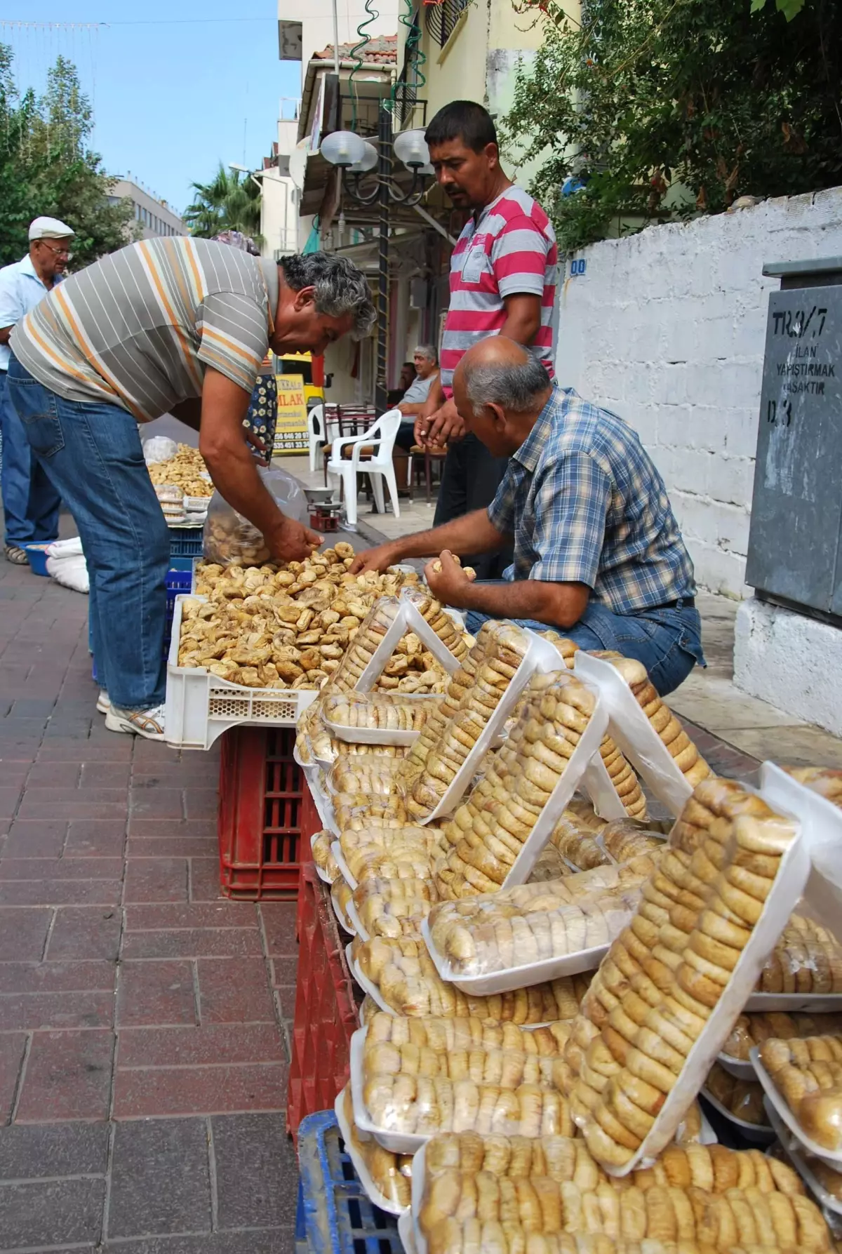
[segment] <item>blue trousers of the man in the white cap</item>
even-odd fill
[[[46,544],[58,539],[61,498],[33,455],[26,433],[9,398],[4,370],[0,370],[0,430],[5,543],[23,548],[24,544]]]

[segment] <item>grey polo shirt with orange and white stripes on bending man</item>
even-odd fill
[[[54,287],[10,344],[59,396],[147,423],[200,396],[205,366],[251,394],[277,303],[274,262],[210,240],[144,240]]]

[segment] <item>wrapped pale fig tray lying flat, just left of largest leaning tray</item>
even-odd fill
[[[424,928],[430,956],[442,979],[477,993],[593,969],[632,918],[653,870],[642,858],[605,868],[596,887],[579,883],[590,878],[585,873],[440,903]]]

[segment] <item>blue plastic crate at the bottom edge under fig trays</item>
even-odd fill
[[[345,1152],[332,1110],[298,1125],[296,1246],[309,1254],[403,1254],[397,1218],[372,1205]]]

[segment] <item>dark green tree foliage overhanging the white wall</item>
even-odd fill
[[[720,212],[744,194],[842,182],[838,0],[812,0],[791,25],[788,0],[754,10],[739,0],[589,0],[581,26],[555,0],[524,9],[544,43],[517,71],[501,137],[538,163],[530,191],[564,248]],[[584,188],[561,194],[565,179]]]

